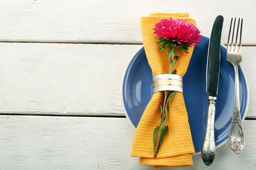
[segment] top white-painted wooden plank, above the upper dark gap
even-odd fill
[[[255,45],[255,6],[255,0],[1,0],[0,41],[142,43],[140,17],[189,12],[208,37],[223,15],[224,43],[231,17],[243,17],[243,43]]]

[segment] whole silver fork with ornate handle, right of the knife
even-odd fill
[[[240,62],[242,62],[241,37],[242,37],[243,19],[241,19],[239,48],[237,45],[237,39],[238,39],[238,33],[239,33],[240,18],[238,20],[238,26],[237,26],[237,31],[236,31],[236,45],[234,46],[234,44],[233,44],[234,32],[235,32],[235,26],[236,26],[236,18],[234,21],[231,47],[229,44],[230,32],[231,32],[231,28],[232,28],[232,21],[233,21],[233,18],[231,19],[230,31],[229,31],[228,40],[227,40],[227,61],[231,62],[231,64],[235,68],[235,100],[234,100],[232,122],[230,125],[230,131],[229,131],[229,145],[235,153],[241,153],[242,149],[244,148],[244,133],[243,133],[243,127],[242,127],[242,121],[241,121],[240,102],[239,102],[238,66],[239,66]]]

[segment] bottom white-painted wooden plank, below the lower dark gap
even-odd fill
[[[1,170],[152,170],[130,156],[134,129],[125,118],[0,116],[0,134]],[[240,154],[226,143],[211,166],[197,155],[192,167],[172,170],[254,170],[255,121],[244,121],[244,135]]]

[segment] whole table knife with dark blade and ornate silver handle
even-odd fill
[[[215,156],[215,137],[214,137],[214,119],[215,105],[218,92],[218,81],[221,65],[221,32],[224,18],[219,15],[216,17],[209,41],[206,91],[208,93],[208,113],[207,125],[204,134],[204,142],[201,150],[201,156],[206,165],[212,164]]]

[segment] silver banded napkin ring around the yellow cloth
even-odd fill
[[[161,74],[153,77],[153,93],[157,91],[179,91],[183,93],[183,79],[176,74]]]

